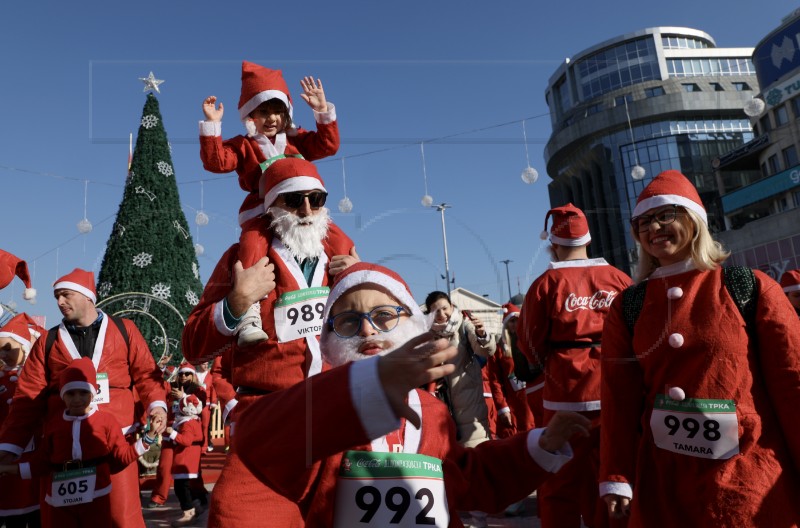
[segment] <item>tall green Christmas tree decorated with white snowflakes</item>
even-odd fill
[[[150,88],[158,91],[157,84]],[[98,306],[132,319],[156,360],[169,354],[170,363],[176,364],[183,357],[184,322],[202,291],[167,133],[158,100],[150,92],[100,268]]]

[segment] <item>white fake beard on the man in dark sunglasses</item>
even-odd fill
[[[327,208],[320,207],[317,214],[304,218],[280,207],[270,207],[267,213],[272,216],[270,229],[275,231],[297,260],[319,258],[325,251],[322,241],[328,235],[328,224],[331,221]]]

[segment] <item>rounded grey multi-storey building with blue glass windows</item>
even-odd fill
[[[725,229],[711,162],[753,139],[743,111],[758,93],[752,52],[717,48],[695,29],[657,27],[592,46],[551,76],[550,202],[584,210],[591,256],[630,271],[636,197],[667,169],[695,183],[712,230]]]

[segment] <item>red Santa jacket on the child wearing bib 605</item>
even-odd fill
[[[81,460],[84,467],[95,467],[94,497],[102,497],[111,493],[111,474],[125,469],[145,451],[141,440],[135,444],[125,440],[119,423],[110,413],[92,406],[84,416],[62,412],[61,416],[48,418],[41,446],[30,463],[20,464],[19,471],[23,478],[32,475],[42,478],[47,490],[45,501],[50,504],[53,473],[63,471],[69,461]]]

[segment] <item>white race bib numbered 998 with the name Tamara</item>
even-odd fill
[[[676,401],[659,394],[650,429],[658,447],[681,455],[726,460],[739,453],[739,421],[733,400]]]

